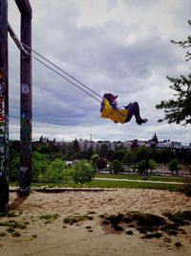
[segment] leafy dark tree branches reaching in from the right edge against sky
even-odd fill
[[[188,21],[188,24],[191,26],[191,21]],[[188,35],[184,41],[174,41],[171,40],[173,44],[178,44],[182,48],[191,47],[191,35]],[[191,52],[187,51],[185,55],[185,60],[188,61],[191,59]],[[159,122],[167,120],[168,124],[175,123],[177,125],[188,125],[191,124],[191,74],[187,77],[180,75],[178,78],[170,78],[167,76],[167,79],[172,82],[170,88],[173,89],[176,93],[175,99],[168,101],[161,101],[159,105],[156,105],[158,109],[164,109],[165,117],[159,119]]]

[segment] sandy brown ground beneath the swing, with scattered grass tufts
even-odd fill
[[[142,239],[138,230],[133,235],[109,231],[101,224],[101,215],[131,211],[158,216],[166,212],[191,211],[191,198],[180,193],[117,189],[102,191],[65,191],[40,193],[28,198],[11,193],[10,213],[0,217],[1,256],[60,255],[191,255],[191,225],[183,226],[186,234]],[[74,224],[64,223],[69,216],[88,216]],[[181,246],[176,246],[179,242]]]

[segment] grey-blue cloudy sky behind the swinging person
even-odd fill
[[[170,42],[190,34],[190,0],[31,0],[32,48],[97,94],[118,104],[135,101],[148,122],[120,125],[100,118],[100,104],[32,60],[32,138],[191,142],[191,128],[158,123],[155,105],[173,97],[166,76],[190,72],[185,52]],[[9,0],[9,21],[20,36],[20,13]],[[19,51],[10,45],[10,138],[19,139]]]

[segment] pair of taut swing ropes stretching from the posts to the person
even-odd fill
[[[90,90],[92,93],[96,94],[96,96],[98,96],[99,98],[102,99],[102,97],[97,94],[94,90],[92,90],[91,88],[89,88],[87,85],[85,85],[83,82],[78,81],[77,79],[75,79],[72,75],[70,75],[69,73],[67,73],[66,71],[64,71],[63,69],[61,69],[60,67],[58,67],[57,65],[55,65],[51,60],[49,60],[48,58],[43,57],[42,55],[38,54],[37,52],[35,52],[34,50],[32,50],[32,48],[30,48],[28,45],[26,45],[25,43],[22,43],[21,41],[19,41],[19,39],[17,38],[17,36],[14,34],[13,30],[11,29],[11,25],[8,24],[8,31],[13,39],[13,41],[15,42],[15,44],[17,45],[17,47],[20,49],[20,51],[22,51],[25,55],[29,55],[32,58],[34,58],[35,60],[37,60],[38,62],[40,62],[41,64],[43,64],[44,66],[46,66],[47,68],[49,68],[50,70],[52,70],[55,74],[57,74],[58,76],[60,76],[61,78],[65,79],[66,81],[71,82],[72,84],[74,84],[74,86],[76,86],[78,89],[80,89],[81,91],[83,91],[84,93],[88,94],[89,96],[91,96],[92,98],[94,98],[97,102],[101,103],[100,100],[98,100],[94,95],[92,95],[90,92],[86,91],[85,89],[81,88],[79,85],[77,85],[74,81],[77,81],[78,83],[80,83],[82,86],[84,86],[86,89]],[[53,67],[51,67],[50,65],[46,64],[44,61],[40,60],[39,58],[34,57],[29,51],[26,51],[25,47],[32,51],[34,54],[36,54],[37,56],[39,56],[40,58],[45,59],[47,62],[49,62],[50,64],[52,64],[55,68],[57,68],[58,70],[60,70],[61,72],[63,72],[64,74],[66,74],[68,77],[70,77],[71,79],[73,79],[74,81],[71,81],[70,79],[66,78],[65,76],[63,76],[62,74],[60,74],[58,71],[56,71]]]

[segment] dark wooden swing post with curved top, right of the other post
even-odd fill
[[[15,0],[21,12],[21,42],[32,48],[32,9],[29,0]],[[31,51],[28,50],[31,54]],[[21,52],[19,194],[31,192],[32,175],[32,57]]]

